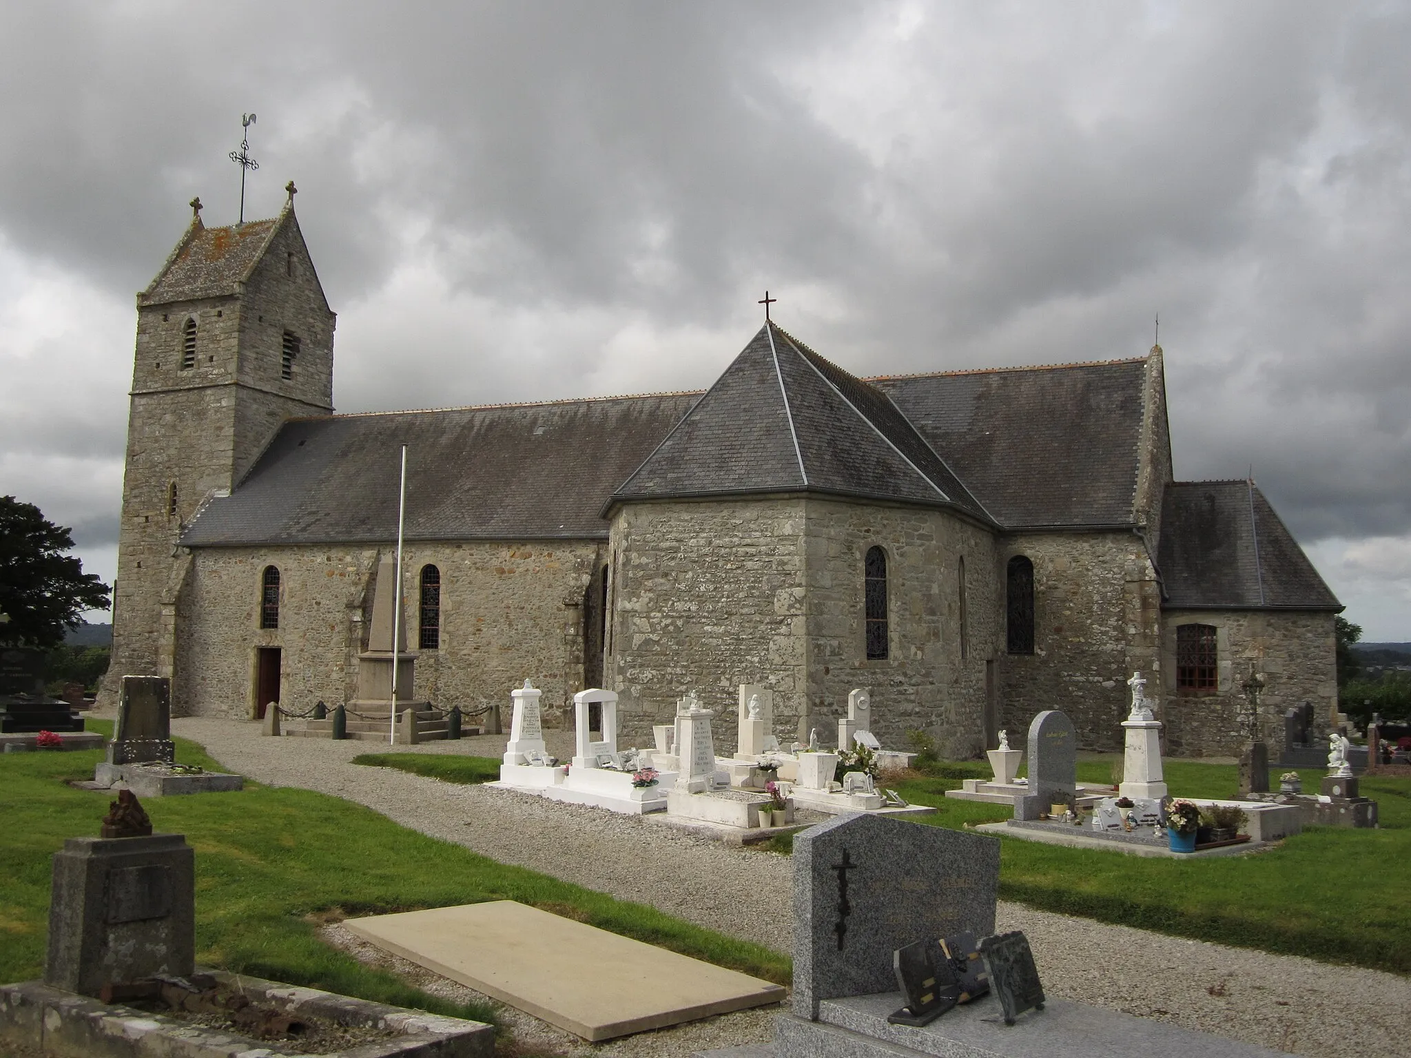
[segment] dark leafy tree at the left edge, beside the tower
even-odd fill
[[[45,521],[34,504],[0,497],[0,640],[52,647],[82,624],[85,609],[107,609],[109,590],[97,574],[63,552],[73,537]]]

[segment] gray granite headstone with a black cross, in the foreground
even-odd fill
[[[793,1009],[893,992],[892,954],[995,931],[999,839],[876,815],[840,815],[794,838]]]

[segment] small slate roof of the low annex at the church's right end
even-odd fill
[[[1175,481],[1157,556],[1168,608],[1342,609],[1252,481]]]

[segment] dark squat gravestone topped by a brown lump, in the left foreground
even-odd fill
[[[140,832],[131,821],[145,813],[124,794],[104,829]],[[195,961],[195,853],[185,837],[69,838],[54,853],[47,985],[96,997],[104,985],[190,976]]]

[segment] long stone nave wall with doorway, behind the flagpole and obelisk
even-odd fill
[[[419,639],[420,570],[440,571],[440,649],[416,662],[418,698],[474,711],[526,677],[545,690],[547,722],[583,679],[583,591],[601,545],[567,542],[412,543],[404,552],[404,616]],[[391,545],[384,546],[391,550]],[[195,715],[254,715],[255,649],[281,647],[281,704],[302,712],[353,697],[367,642],[375,547],[206,547],[178,607],[174,708]],[[265,566],[281,574],[279,628],[261,629]]]

